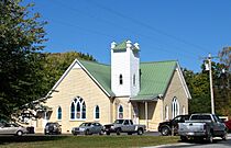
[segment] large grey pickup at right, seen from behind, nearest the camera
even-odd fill
[[[212,143],[213,137],[227,139],[227,127],[213,114],[191,114],[189,121],[178,123],[178,135],[183,141],[194,138]]]

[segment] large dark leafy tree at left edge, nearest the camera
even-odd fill
[[[0,1],[0,118],[11,118],[19,107],[41,95],[40,52],[45,38],[40,14],[21,0]]]

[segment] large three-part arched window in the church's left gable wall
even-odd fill
[[[85,119],[86,118],[86,104],[85,101],[77,96],[73,100],[70,105],[70,119]]]

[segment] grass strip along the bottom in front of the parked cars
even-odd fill
[[[125,148],[174,144],[178,140],[176,136],[22,136],[0,137],[0,148]]]

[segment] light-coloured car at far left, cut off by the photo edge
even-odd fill
[[[1,123],[0,124],[0,135],[15,135],[22,136],[26,134],[28,130],[25,127],[16,124],[16,123]]]

